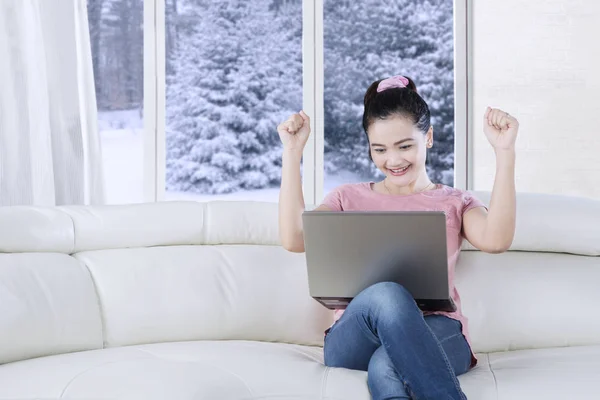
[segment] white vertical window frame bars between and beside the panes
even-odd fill
[[[454,186],[471,189],[472,0],[454,0]],[[324,188],[323,0],[302,0],[303,109],[312,132],[303,153],[307,205],[319,204]],[[144,1],[144,201],[165,200],[166,54],[165,0]]]

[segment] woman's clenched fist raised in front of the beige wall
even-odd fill
[[[497,108],[488,107],[483,116],[483,132],[494,150],[514,150],[519,121]]]

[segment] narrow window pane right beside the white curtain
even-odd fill
[[[106,200],[142,202],[143,0],[88,0]]]

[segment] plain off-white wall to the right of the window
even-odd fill
[[[471,188],[491,190],[485,107],[520,122],[518,191],[600,199],[600,2],[473,0]]]

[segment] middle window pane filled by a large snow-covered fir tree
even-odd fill
[[[277,201],[301,0],[167,0],[166,199]]]

